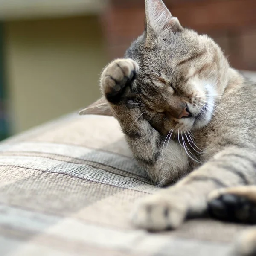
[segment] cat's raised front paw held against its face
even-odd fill
[[[101,87],[106,99],[118,103],[122,96],[129,93],[128,85],[137,78],[139,66],[132,59],[112,61],[102,73]]]

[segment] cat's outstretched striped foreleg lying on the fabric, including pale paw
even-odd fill
[[[133,215],[137,227],[148,230],[177,228],[187,216],[207,211],[207,196],[219,188],[256,184],[256,152],[225,148],[176,185],[148,196]]]

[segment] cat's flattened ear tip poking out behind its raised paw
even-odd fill
[[[113,116],[108,102],[105,98],[100,98],[87,108],[82,109],[79,115],[101,115],[101,116]]]

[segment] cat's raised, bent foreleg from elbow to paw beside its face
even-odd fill
[[[143,113],[139,108],[140,104],[133,102],[135,96],[132,87],[138,73],[139,66],[131,59],[112,61],[102,73],[102,93],[119,121],[137,162],[155,183],[164,185],[171,182],[175,175],[182,175],[184,170],[188,169],[186,157],[175,161],[184,156],[186,152],[171,140],[169,148],[173,151],[171,154],[173,161],[170,160],[172,157],[169,157],[169,167],[164,163],[162,159],[163,137],[143,118]]]

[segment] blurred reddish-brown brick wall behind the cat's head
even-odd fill
[[[210,35],[220,44],[230,64],[256,70],[256,0],[163,0],[184,27]],[[102,15],[111,58],[144,30],[145,0],[111,0]]]

